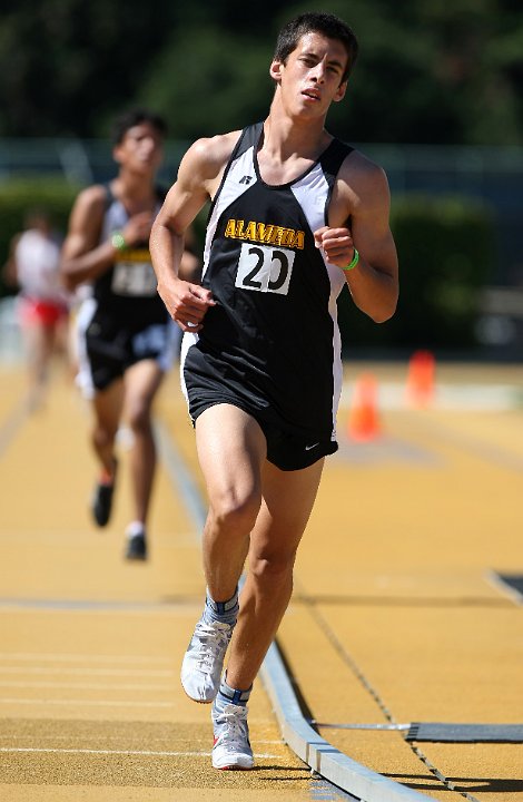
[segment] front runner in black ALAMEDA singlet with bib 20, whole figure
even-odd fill
[[[253,766],[246,703],[290,598],[324,458],[337,449],[336,297],[347,284],[376,322],[397,302],[386,177],[324,128],[356,55],[332,14],[285,26],[268,117],[195,143],[151,232],[158,291],[186,332],[182,382],[209,498],[207,599],[181,682],[213,702],[217,769]],[[209,199],[197,286],[178,265],[184,232]]]

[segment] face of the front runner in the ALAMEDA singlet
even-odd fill
[[[270,74],[293,109],[322,116],[345,95],[347,82],[342,84],[342,78],[347,59],[341,41],[310,32],[302,37],[285,65],[273,62]]]

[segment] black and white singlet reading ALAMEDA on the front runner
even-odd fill
[[[334,139],[304,175],[267,185],[257,149],[263,123],[244,129],[213,200],[203,284],[216,306],[187,333],[181,379],[189,413],[227,402],[336,450],[342,387],[336,299],[343,272],[313,232],[327,225],[336,174],[353,150]]]

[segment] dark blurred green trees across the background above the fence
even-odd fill
[[[280,25],[307,10],[346,19],[361,57],[329,117],[349,141],[523,144],[521,0],[3,0],[0,135],[92,137],[138,101],[174,137],[262,118]]]

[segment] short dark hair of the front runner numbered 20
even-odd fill
[[[299,40],[306,33],[323,33],[328,39],[338,39],[347,51],[347,67],[343,74],[342,82],[346,81],[358,55],[358,42],[354,31],[335,14],[312,11],[295,17],[279,31],[274,53],[275,61],[285,63],[290,53],[296,50]]]

